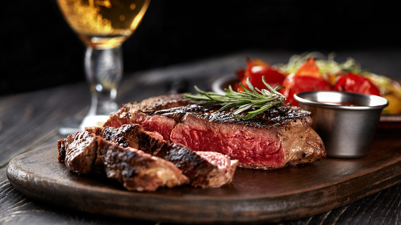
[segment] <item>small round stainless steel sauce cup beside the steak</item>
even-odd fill
[[[311,111],[312,128],[322,138],[328,157],[358,158],[369,153],[385,98],[341,91],[305,91],[294,95]]]

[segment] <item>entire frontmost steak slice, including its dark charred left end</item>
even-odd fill
[[[188,183],[173,163],[132,147],[121,147],[89,132],[58,140],[59,161],[78,174],[99,173],[129,191],[155,191]]]

